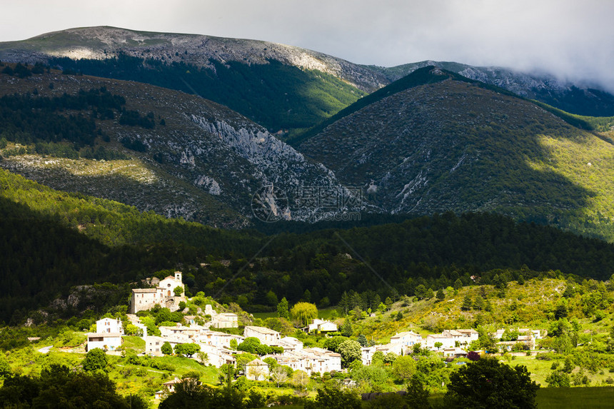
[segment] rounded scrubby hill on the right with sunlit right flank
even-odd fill
[[[306,134],[299,150],[391,213],[497,211],[614,240],[614,145],[588,131],[610,118],[538,106],[439,69],[412,75],[400,80],[410,86],[381,89]]]

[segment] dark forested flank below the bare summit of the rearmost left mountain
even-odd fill
[[[366,95],[331,74],[298,69],[275,60],[254,65],[211,61],[214,69],[208,69],[121,54],[104,60],[52,58],[49,64],[61,66],[64,71],[197,94],[273,132],[311,127]]]

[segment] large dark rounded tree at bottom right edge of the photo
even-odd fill
[[[536,408],[538,389],[525,366],[483,358],[451,373],[446,400],[460,408]]]

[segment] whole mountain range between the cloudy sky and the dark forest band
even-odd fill
[[[1,43],[0,59],[7,110],[19,94],[55,101],[57,121],[91,121],[85,144],[0,130],[0,166],[59,190],[234,228],[495,211],[614,239],[613,121],[588,117],[614,115],[614,97],[595,86],[110,27]],[[96,106],[91,90],[125,103]],[[86,102],[58,107],[65,94]]]

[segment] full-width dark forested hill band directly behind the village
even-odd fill
[[[24,308],[46,305],[71,286],[124,283],[171,268],[184,272],[189,293],[253,311],[274,307],[269,292],[325,306],[346,292],[376,303],[421,285],[467,284],[475,274],[488,283],[517,279],[520,271],[525,278],[556,270],[600,279],[614,273],[608,243],[494,214],[263,236],[54,191],[6,171],[0,176],[0,320],[23,318]]]

